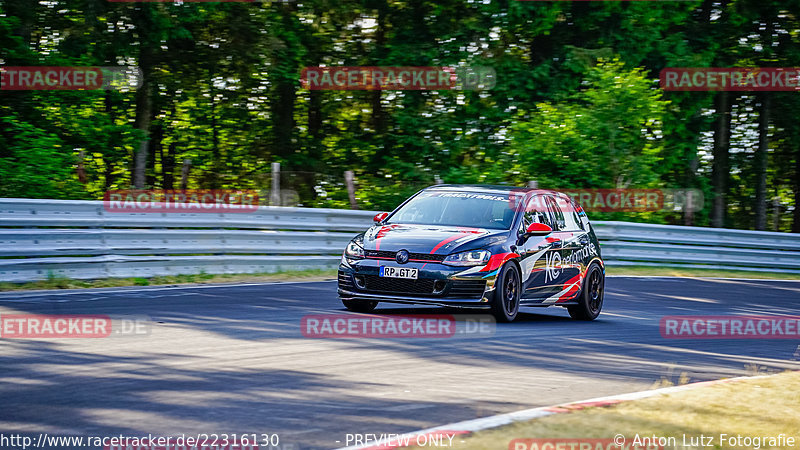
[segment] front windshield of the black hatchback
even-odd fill
[[[423,192],[403,205],[388,223],[447,225],[507,230],[514,221],[508,194]]]

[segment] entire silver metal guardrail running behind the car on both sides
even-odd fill
[[[99,201],[0,199],[0,281],[334,268],[373,212],[111,213]],[[800,234],[593,222],[609,265],[800,273]]]

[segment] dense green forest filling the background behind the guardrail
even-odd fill
[[[5,2],[3,65],[135,64],[149,91],[0,91],[0,196],[97,199],[129,188],[136,170],[146,187],[178,188],[188,160],[188,188],[267,199],[280,162],[294,174],[282,188],[303,206],[349,207],[343,173],[353,170],[362,209],[392,209],[437,179],[535,179],[697,188],[706,208],[692,221],[707,224],[714,93],[662,92],[654,80],[665,67],[800,66],[798,10],[799,0]],[[319,65],[488,66],[497,84],[303,89],[302,68]],[[775,94],[769,130],[781,229],[800,226],[792,94]],[[734,97],[729,222],[751,227],[757,102]]]

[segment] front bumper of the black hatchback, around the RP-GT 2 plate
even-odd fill
[[[394,262],[364,259],[339,265],[339,297],[390,303],[424,304],[462,308],[488,308],[494,292],[496,273],[464,274],[469,267],[439,263],[407,263],[419,269],[417,280],[383,278],[380,266],[398,267]]]

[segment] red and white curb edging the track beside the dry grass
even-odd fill
[[[412,431],[405,434],[386,434],[383,439],[377,441],[366,442],[362,445],[353,445],[349,447],[341,447],[337,450],[391,450],[402,448],[410,445],[425,446],[426,442],[433,441],[434,439],[450,439],[457,435],[466,435],[475,433],[477,431],[488,430],[490,428],[497,428],[504,425],[509,425],[514,422],[522,422],[526,420],[538,419],[540,417],[550,416],[553,414],[561,414],[571,411],[578,411],[586,408],[593,408],[598,406],[611,406],[617,403],[622,403],[631,400],[639,400],[656,395],[671,394],[674,392],[686,391],[702,386],[711,386],[715,384],[729,383],[732,381],[740,380],[755,380],[759,378],[767,378],[770,375],[756,375],[749,377],[735,377],[725,378],[721,380],[701,381],[697,383],[684,384],[680,386],[670,386],[659,389],[650,389],[641,392],[632,392],[629,394],[618,394],[607,397],[598,397],[580,402],[563,403],[553,406],[542,406],[539,408],[524,409],[522,411],[515,411],[512,413],[498,414],[496,416],[482,417],[480,419],[465,420],[463,422],[456,422],[447,425],[440,425],[433,428],[426,428],[424,430]],[[421,445],[420,445],[421,444]]]

